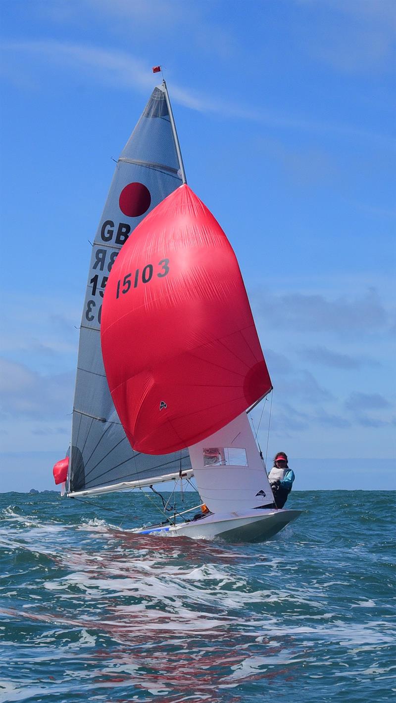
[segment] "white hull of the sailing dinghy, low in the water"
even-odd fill
[[[215,539],[220,537],[231,542],[263,542],[295,520],[300,510],[249,510],[207,515],[199,520],[181,522],[176,525],[141,527],[136,534],[158,534],[158,536],[186,536],[193,539]]]

